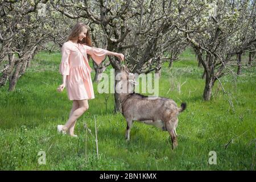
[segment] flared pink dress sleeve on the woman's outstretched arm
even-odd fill
[[[94,60],[95,63],[101,64],[103,60],[105,60],[106,55],[107,55],[107,50],[102,49],[102,48],[97,48],[97,47],[90,47],[86,46],[86,53],[90,56],[92,56],[92,59]]]

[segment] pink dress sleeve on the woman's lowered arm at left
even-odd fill
[[[60,63],[60,74],[69,75],[69,55],[70,49],[67,47],[67,44],[63,44],[61,47],[61,63]]]

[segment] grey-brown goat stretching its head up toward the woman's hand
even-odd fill
[[[168,98],[155,97],[154,99],[133,92],[133,87],[138,84],[133,73],[127,67],[121,69],[122,80],[120,85],[127,86],[125,93],[120,93],[119,98],[122,105],[122,114],[127,122],[126,140],[130,140],[130,131],[133,121],[139,121],[148,125],[159,127],[163,131],[168,131],[172,140],[172,149],[177,147],[176,127],[178,123],[177,115],[185,110],[187,105],[176,103]]]

